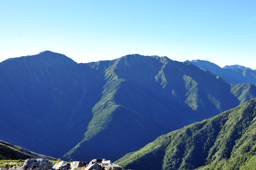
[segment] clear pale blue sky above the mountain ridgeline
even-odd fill
[[[0,61],[45,50],[256,69],[256,0],[0,0]]]

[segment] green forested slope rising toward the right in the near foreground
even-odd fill
[[[115,163],[132,170],[255,170],[256,99],[160,136]]]

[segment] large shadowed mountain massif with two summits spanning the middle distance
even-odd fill
[[[160,135],[254,98],[167,57],[76,63],[50,51],[0,63],[0,139],[64,159],[116,160]]]

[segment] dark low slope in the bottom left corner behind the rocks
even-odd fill
[[[20,146],[15,146],[0,140],[0,160],[25,160],[28,158],[57,160],[56,158],[34,153]]]

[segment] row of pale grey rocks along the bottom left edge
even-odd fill
[[[80,161],[70,164],[60,161],[53,164],[47,159],[27,159],[21,166],[1,167],[0,170],[124,170],[124,168],[106,159],[94,159],[89,164]]]

